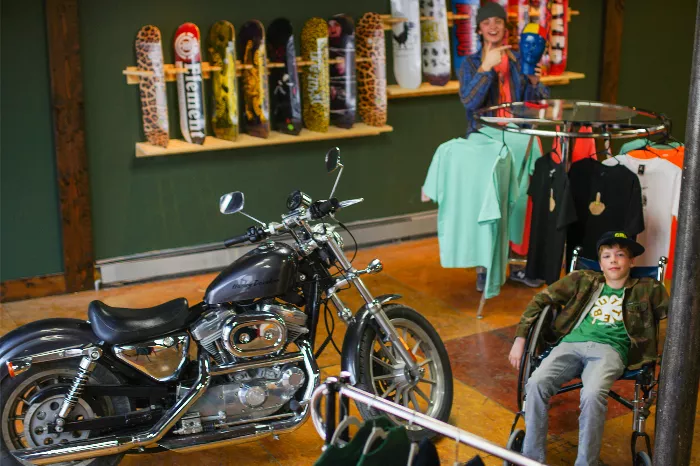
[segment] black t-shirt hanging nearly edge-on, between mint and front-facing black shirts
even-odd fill
[[[551,154],[535,162],[527,193],[532,197],[532,219],[525,275],[552,284],[561,274],[566,229],[576,221],[576,209],[566,170]]]

